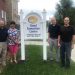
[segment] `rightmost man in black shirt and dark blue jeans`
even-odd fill
[[[71,49],[74,42],[74,29],[69,25],[69,18],[64,18],[64,26],[60,28],[58,45],[60,46],[61,66],[70,67]]]

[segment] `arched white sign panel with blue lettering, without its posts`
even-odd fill
[[[42,39],[43,22],[41,16],[32,12],[26,16],[25,20],[25,39]]]

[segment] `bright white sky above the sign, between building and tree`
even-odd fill
[[[59,0],[20,0],[19,2],[19,11],[23,9],[25,12],[38,10],[41,11],[43,9],[47,12],[47,19],[52,17],[56,11],[56,4]]]

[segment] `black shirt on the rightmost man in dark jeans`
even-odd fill
[[[60,27],[60,39],[63,42],[71,42],[72,36],[75,35],[74,28],[72,26],[61,26]]]

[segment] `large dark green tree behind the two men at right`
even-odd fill
[[[70,23],[75,24],[75,7],[73,7],[72,0],[60,0],[60,3],[56,6],[56,18],[60,24],[63,23],[64,17],[70,18]]]

